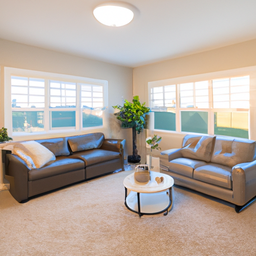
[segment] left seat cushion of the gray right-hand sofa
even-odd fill
[[[168,166],[170,171],[192,178],[193,170],[205,164],[205,161],[180,157],[171,160]]]

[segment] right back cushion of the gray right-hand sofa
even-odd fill
[[[211,162],[233,167],[238,163],[253,161],[254,153],[254,140],[217,136]]]

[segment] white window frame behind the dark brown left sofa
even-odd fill
[[[25,76],[25,77],[32,77],[32,78],[43,78],[45,82],[45,106],[44,108],[16,108],[15,110],[20,111],[44,111],[44,131],[39,132],[12,132],[12,107],[11,107],[11,76]],[[57,81],[65,81],[65,82],[75,82],[76,83],[76,107],[49,107],[49,80],[57,80]],[[50,72],[43,72],[43,71],[35,71],[35,70],[28,70],[28,69],[20,69],[20,68],[13,68],[13,67],[4,67],[4,124],[5,127],[8,129],[9,136],[29,136],[35,134],[45,134],[45,133],[58,133],[58,132],[65,132],[70,133],[74,131],[81,131],[86,129],[93,129],[93,128],[102,128],[102,126],[94,126],[94,127],[82,127],[82,108],[81,108],[81,95],[80,95],[80,84],[81,83],[88,83],[88,84],[95,84],[101,85],[103,88],[103,106],[108,106],[108,82],[107,80],[101,79],[93,79],[87,78],[82,76],[73,76],[73,75],[66,75],[66,74],[57,74],[57,73],[50,73]],[[50,111],[75,111],[75,128],[63,127],[63,128],[53,128],[50,129]],[[103,114],[104,116],[104,114]]]

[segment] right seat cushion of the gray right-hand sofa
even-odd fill
[[[225,165],[210,163],[195,168],[193,178],[232,189],[232,168]]]

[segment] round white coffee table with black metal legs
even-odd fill
[[[157,183],[155,178],[162,177]],[[173,184],[171,176],[150,170],[150,180],[141,184],[134,179],[134,172],[123,180],[125,188],[125,206],[139,216],[159,214],[167,215],[173,204]]]

